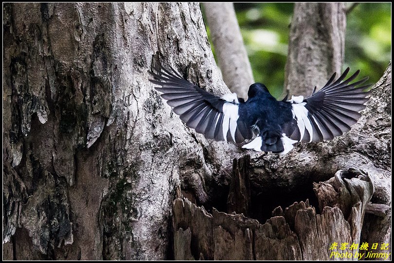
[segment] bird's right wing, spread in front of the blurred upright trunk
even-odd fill
[[[304,99],[302,96],[292,97],[293,121],[284,128],[286,135],[297,141],[331,140],[350,130],[357,123],[368,101],[365,92],[370,85],[360,86],[368,77],[351,83],[360,72],[357,70],[345,80],[349,68],[335,81],[335,73],[327,84],[318,92]]]

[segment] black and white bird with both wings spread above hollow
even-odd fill
[[[357,123],[368,101],[365,92],[368,77],[351,83],[357,70],[346,78],[349,68],[336,80],[335,73],[322,89],[308,98],[291,96],[277,101],[261,83],[249,87],[248,100],[236,93],[215,96],[185,80],[174,69],[154,69],[161,87],[161,97],[190,128],[205,138],[236,143],[251,140],[242,148],[255,151],[287,154],[299,141],[331,140],[350,130]]]

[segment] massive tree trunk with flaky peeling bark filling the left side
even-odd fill
[[[5,259],[164,259],[175,185],[205,202],[236,151],[147,81],[171,64],[228,92],[199,5],[5,3],[3,35]]]

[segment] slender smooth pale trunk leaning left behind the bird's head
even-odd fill
[[[202,6],[223,80],[231,92],[246,100],[254,80],[233,3],[202,3]]]

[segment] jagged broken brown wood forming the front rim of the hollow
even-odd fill
[[[330,250],[329,246],[359,243],[366,204],[374,190],[371,178],[355,169],[338,171],[330,180],[316,184],[314,190],[321,214],[308,202],[294,203],[285,211],[275,209],[275,216],[265,224],[215,209],[208,214],[187,199],[177,198],[173,203],[173,226],[177,236],[174,247],[182,246],[182,251],[187,251],[184,245],[194,243],[199,244],[199,248],[204,247],[201,242],[211,244],[214,245],[213,258],[212,254],[204,254],[200,249],[194,255],[202,253],[205,259],[214,260],[329,260],[335,259],[331,253],[337,251],[352,253],[354,257],[357,249]],[[192,229],[191,239],[190,235],[179,238],[178,231],[183,232],[179,222],[186,223],[184,218],[190,225],[182,228]],[[200,229],[211,231],[212,236],[200,238]]]

